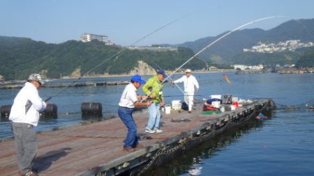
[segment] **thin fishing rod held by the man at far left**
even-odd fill
[[[195,12],[193,12],[195,13]],[[163,26],[161,26],[158,29],[155,29],[154,31],[151,31],[151,33],[148,33],[147,35],[144,35],[142,38],[140,38],[139,40],[136,40],[135,42],[133,42],[130,46],[133,46],[135,44],[137,44],[138,42],[144,40],[145,38],[148,38],[150,35],[153,35],[154,33],[160,31],[161,29],[164,29],[166,26],[169,26],[171,24],[173,24],[174,22],[179,21],[180,19],[184,19],[185,17],[188,17],[190,15],[192,15],[193,13],[188,13],[187,15],[184,15],[182,17],[179,17],[177,19],[174,19],[172,22],[169,22]],[[114,58],[115,56],[118,56],[119,54],[121,54],[123,51],[125,51],[127,49],[127,47],[124,47],[123,49],[121,49],[120,51],[118,51],[116,54],[110,56],[109,58],[106,58],[103,62],[99,63],[98,65],[96,65],[95,67],[91,68],[91,70],[85,72],[81,77],[77,78],[76,80],[74,80],[72,83],[70,83],[68,86],[61,88],[61,90],[59,90],[57,93],[55,93],[54,95],[48,97],[47,99],[45,99],[45,102],[48,102],[50,99],[52,99],[52,97],[55,97],[57,95],[59,95],[59,93],[61,93],[64,89],[68,88],[69,86],[73,85],[75,82],[79,81],[80,79],[82,79],[82,77],[86,76],[87,74],[89,74],[90,72],[92,72],[93,70],[95,70],[97,67],[99,67],[100,65],[103,65],[103,63],[109,61],[110,59]]]

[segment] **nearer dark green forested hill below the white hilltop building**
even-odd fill
[[[118,56],[107,59],[121,51],[118,46],[106,46],[96,40],[78,42],[70,40],[61,44],[36,42],[29,38],[0,36],[0,75],[4,79],[25,79],[32,72],[41,72],[49,78],[59,78],[79,70],[84,74],[125,74],[144,61],[151,67],[174,70],[194,55],[191,49],[179,47],[177,51],[152,51],[125,49]],[[202,69],[206,64],[195,58],[184,68]]]

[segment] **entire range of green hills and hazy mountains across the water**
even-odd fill
[[[89,74],[129,73],[139,65],[138,61],[144,61],[155,69],[160,66],[165,70],[174,70],[194,53],[223,34],[179,45],[161,45],[178,47],[177,51],[125,49],[124,52],[108,61],[105,60],[123,48],[106,46],[98,41],[84,43],[70,40],[61,44],[47,44],[29,38],[0,36],[0,79],[1,77],[4,79],[25,79],[31,72],[40,72],[49,78],[68,76],[73,72],[82,75],[103,61],[105,63],[96,67]],[[202,60],[195,58],[184,68],[202,69],[209,64],[221,67],[221,65],[234,63],[269,66],[277,63],[281,65],[297,63],[300,67],[312,64],[313,49],[311,48],[267,54],[243,52],[244,48],[251,48],[257,45],[257,42],[269,44],[286,40],[313,42],[314,19],[290,20],[267,31],[262,29],[235,31],[202,52],[199,56]]]

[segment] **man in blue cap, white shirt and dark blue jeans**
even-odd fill
[[[140,102],[138,99],[147,99],[147,96],[137,95],[137,89],[140,88],[141,84],[145,81],[142,80],[141,76],[135,74],[131,78],[131,83],[124,88],[124,92],[121,95],[119,102],[118,115],[121,118],[124,125],[128,128],[128,134],[124,140],[124,151],[133,152],[135,147],[141,147],[137,140],[137,127],[133,120],[133,111],[135,106],[150,106],[151,102]]]

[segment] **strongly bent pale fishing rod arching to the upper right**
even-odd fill
[[[174,74],[175,72],[177,72],[178,70],[181,69],[181,67],[183,67],[184,65],[186,65],[188,62],[190,62],[193,58],[195,58],[196,56],[198,56],[199,54],[201,54],[204,50],[206,50],[207,48],[211,47],[211,45],[214,45],[216,42],[218,42],[219,40],[222,40],[223,38],[225,38],[227,35],[230,35],[231,33],[234,33],[234,31],[237,31],[239,29],[242,29],[244,28],[245,26],[248,26],[250,24],[254,24],[256,22],[260,22],[260,21],[264,21],[264,20],[267,20],[267,19],[272,19],[272,18],[277,18],[277,17],[284,17],[284,16],[271,16],[271,17],[262,17],[262,18],[259,18],[259,19],[255,19],[253,20],[252,22],[248,22],[246,24],[243,24],[235,29],[232,29],[232,31],[229,31],[227,33],[225,33],[225,35],[222,35],[220,38],[216,39],[214,42],[211,42],[209,45],[207,45],[206,47],[202,48],[200,51],[198,51],[194,56],[190,57],[186,62],[184,62],[180,67],[178,67],[176,70],[174,70],[174,72],[172,72],[171,74],[169,74],[161,83],[164,83],[167,79],[169,79],[169,77],[172,76],[172,74]],[[158,88],[161,83],[156,87]],[[151,90],[151,93],[154,92],[154,90],[156,90],[156,88],[154,88],[153,90]],[[149,93],[149,95],[151,95],[151,93]],[[148,96],[149,96],[148,95]]]

